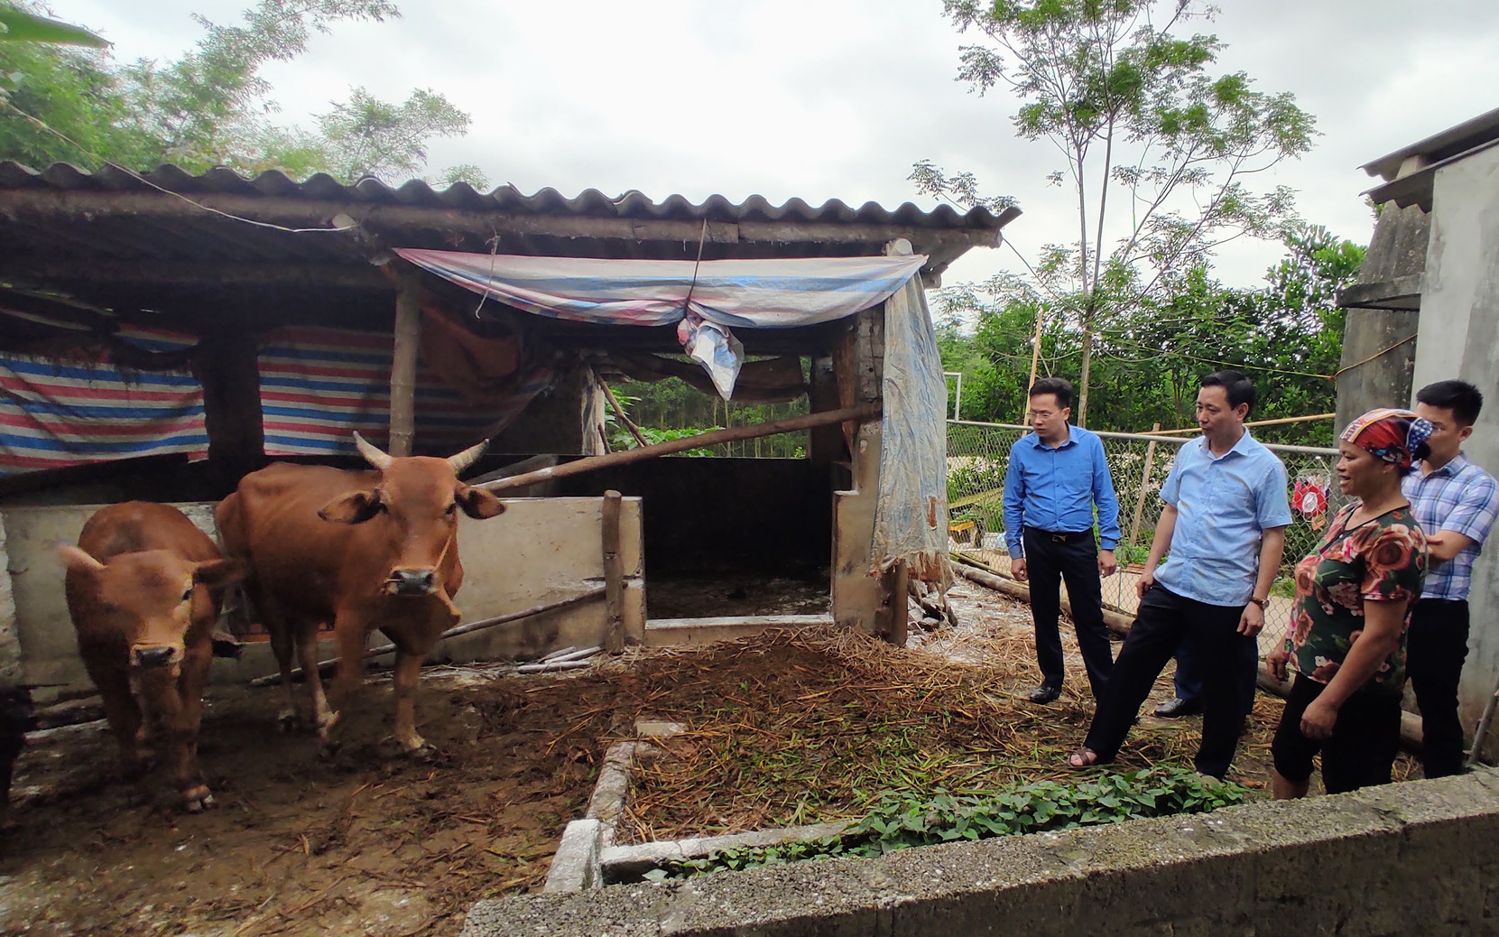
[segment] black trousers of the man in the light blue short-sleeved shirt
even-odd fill
[[[1243,606],[1210,606],[1159,585],[1145,592],[1084,742],[1099,762],[1112,762],[1118,754],[1156,678],[1190,637],[1202,675],[1202,744],[1193,762],[1214,778],[1228,774],[1244,730],[1238,679],[1243,613]]]

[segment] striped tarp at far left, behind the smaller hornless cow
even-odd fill
[[[147,351],[178,351],[189,336],[121,327]],[[202,387],[186,372],[126,372],[103,360],[0,355],[0,474],[135,456],[208,451]]]

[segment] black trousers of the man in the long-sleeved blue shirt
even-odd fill
[[[1061,687],[1063,657],[1061,582],[1072,601],[1072,624],[1078,628],[1078,649],[1088,670],[1093,699],[1103,699],[1103,687],[1114,670],[1114,649],[1103,624],[1103,586],[1099,582],[1099,546],[1093,531],[1067,535],[1058,541],[1045,531],[1025,528],[1025,568],[1031,591],[1031,621],[1036,624],[1036,663],[1043,687]]]

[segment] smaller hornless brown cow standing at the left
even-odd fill
[[[144,501],[100,508],[78,546],[60,546],[58,553],[67,565],[78,654],[103,697],[126,775],[145,768],[144,705],[166,732],[183,807],[213,807],[198,769],[202,687],[223,591],[246,565],[225,559],[177,508]]]

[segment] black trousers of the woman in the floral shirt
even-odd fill
[[[1400,753],[1400,697],[1355,691],[1337,711],[1333,736],[1324,741],[1301,735],[1301,717],[1325,684],[1297,675],[1280,715],[1270,753],[1282,778],[1300,784],[1312,777],[1312,757],[1322,753],[1322,787],[1330,795],[1388,784]]]

